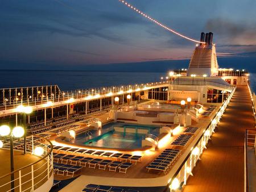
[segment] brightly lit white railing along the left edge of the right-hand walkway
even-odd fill
[[[236,87],[234,87],[229,97],[226,98],[224,103],[222,103],[222,106],[217,111],[216,115],[214,115],[207,128],[205,128],[203,134],[196,141],[196,144],[193,145],[191,151],[188,153],[187,157],[185,157],[179,168],[176,170],[174,176],[170,178],[167,183],[166,189],[164,189],[165,192],[169,190],[169,187],[172,187],[172,181],[174,181],[175,179],[179,181],[180,187],[182,187],[182,185],[186,185],[188,177],[190,176],[187,170],[192,171],[192,169],[196,166],[197,160],[199,160],[201,153],[203,153],[203,150],[206,148],[205,146],[207,145],[210,136],[214,133],[214,129],[220,122],[221,116],[224,113],[226,107],[228,106],[230,99],[233,97],[235,91]]]

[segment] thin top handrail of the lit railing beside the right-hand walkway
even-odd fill
[[[230,101],[230,99],[233,97],[234,91],[236,90],[236,86],[234,87],[234,89],[232,90],[232,92],[230,93],[229,97],[226,98],[226,100],[223,102],[222,106],[219,108],[218,112],[216,112],[216,114],[214,115],[214,117],[212,118],[212,121],[208,124],[207,128],[205,129],[205,131],[209,130],[210,127],[212,126],[213,123],[213,119],[220,119],[221,116],[218,115],[218,113],[222,110],[222,114],[225,110],[225,108],[222,107],[226,107],[228,105],[228,102]],[[221,115],[222,115],[221,114]],[[216,126],[216,125],[215,125]],[[199,142],[201,141],[202,137],[204,136],[204,134],[202,134],[199,139],[196,141],[196,144],[193,145],[193,148],[196,148],[197,145],[199,144]],[[172,181],[174,180],[174,178],[179,174],[180,170],[183,168],[185,162],[188,160],[188,158],[192,155],[192,150],[188,153],[187,157],[185,157],[185,159],[183,160],[183,162],[181,163],[181,165],[179,166],[179,168],[176,170],[174,176],[172,176],[171,180],[169,180],[169,182],[167,183],[166,188],[164,189],[164,192],[168,191],[168,187],[171,185]]]

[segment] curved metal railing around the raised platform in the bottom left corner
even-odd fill
[[[49,180],[53,174],[53,146],[49,140],[46,139],[46,141],[48,145],[36,141],[45,150],[43,155],[39,156],[39,160],[0,177],[0,191],[34,191]],[[34,143],[32,143],[31,147],[32,150],[30,153],[32,155],[34,152]],[[11,174],[14,174],[14,180],[10,180]],[[14,188],[11,188],[12,182],[14,182]]]

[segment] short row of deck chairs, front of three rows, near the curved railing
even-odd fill
[[[76,172],[81,170],[81,166],[76,166],[76,165],[67,165],[67,164],[59,164],[53,162],[53,173],[59,174],[61,176],[71,176],[73,177]]]

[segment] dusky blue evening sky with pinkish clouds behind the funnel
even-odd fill
[[[200,39],[213,32],[217,56],[256,64],[255,0],[129,0],[166,26]],[[118,0],[1,1],[0,69],[188,60],[195,44],[156,26]],[[170,65],[173,62],[170,62]]]

